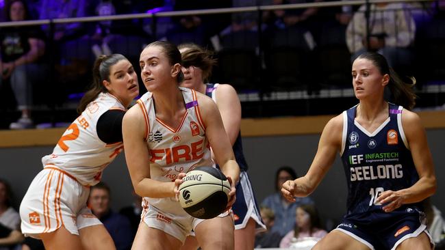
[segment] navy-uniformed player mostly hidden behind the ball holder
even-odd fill
[[[241,103],[236,90],[229,84],[207,83],[212,67],[216,59],[212,53],[196,44],[181,44],[178,46],[181,52],[184,74],[182,87],[195,89],[206,94],[216,102],[224,128],[229,135],[233,146],[236,162],[240,166],[240,182],[236,185],[236,201],[232,206],[235,219],[235,249],[249,250],[255,245],[255,232],[266,230],[255,195],[252,191],[251,182],[247,174],[247,163],[242,152],[242,141],[240,133],[241,125]],[[188,237],[185,249],[196,249],[196,240]]]

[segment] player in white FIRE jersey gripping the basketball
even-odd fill
[[[233,249],[229,212],[213,219],[191,217],[180,206],[178,186],[185,173],[213,165],[212,145],[235,199],[240,169],[220,113],[211,98],[179,87],[181,54],[170,42],[153,42],[140,55],[144,94],[125,114],[125,158],[136,193],[143,198],[142,222],[133,249],[180,249],[193,229],[203,249]]]

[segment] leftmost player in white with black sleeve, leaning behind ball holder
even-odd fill
[[[81,99],[80,115],[66,129],[20,207],[23,234],[45,249],[115,249],[110,234],[86,207],[90,186],[123,150],[122,120],[139,94],[138,77],[123,55],[94,62],[94,82]]]

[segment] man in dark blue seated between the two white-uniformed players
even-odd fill
[[[130,249],[133,242],[130,222],[110,208],[110,187],[107,184],[99,182],[91,186],[88,206],[112,236],[116,250]]]

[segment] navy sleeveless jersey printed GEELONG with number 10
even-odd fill
[[[387,120],[372,133],[355,121],[356,111],[357,105],[343,112],[340,154],[348,181],[345,218],[383,212],[382,204],[376,202],[383,191],[406,189],[419,180],[403,133],[403,107],[390,103]],[[420,204],[405,204],[397,210],[410,208],[421,210]]]

